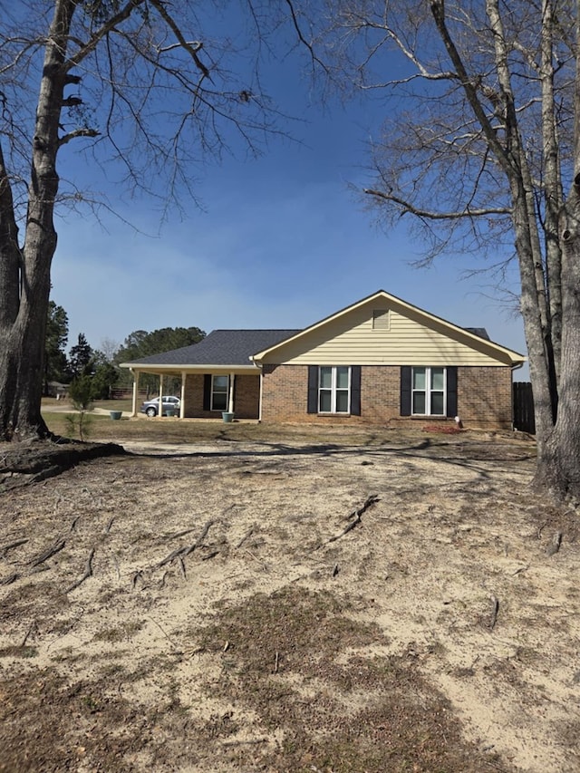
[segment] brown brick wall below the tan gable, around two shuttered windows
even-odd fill
[[[401,417],[401,369],[362,366],[361,416],[317,416],[307,412],[307,365],[264,367],[262,419],[264,421],[344,421],[385,424],[426,421]],[[511,369],[509,367],[459,367],[458,413],[466,428],[509,429],[512,422]],[[449,420],[454,423],[453,419]]]

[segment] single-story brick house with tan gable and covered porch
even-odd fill
[[[512,426],[512,372],[526,357],[379,290],[304,330],[216,330],[173,352],[124,362],[181,380],[181,418],[451,420]]]

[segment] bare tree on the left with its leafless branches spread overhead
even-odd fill
[[[121,184],[183,208],[208,154],[239,140],[256,152],[277,130],[257,70],[272,4],[242,2],[235,30],[232,5],[198,5],[0,2],[2,439],[48,435],[40,406],[55,207],[96,201],[86,179],[59,177],[57,159],[82,149],[109,174],[121,169]]]

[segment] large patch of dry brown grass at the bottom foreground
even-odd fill
[[[211,695],[246,706],[282,738],[273,751],[240,747],[237,765],[276,773],[480,773],[478,749],[462,739],[449,702],[416,664],[364,657],[365,647],[386,640],[349,617],[351,606],[290,586],[224,607],[198,632],[199,646],[222,665]],[[353,650],[359,653],[344,662],[341,654]]]

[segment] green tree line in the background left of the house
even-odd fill
[[[43,392],[48,395],[54,384],[66,384],[73,392],[82,394],[83,401],[107,400],[113,388],[132,386],[131,371],[120,368],[121,362],[180,349],[198,343],[205,335],[198,327],[164,327],[151,333],[136,330],[122,344],[105,339],[101,349],[93,349],[84,333],[79,333],[77,343],[67,356],[68,315],[63,306],[50,301],[44,343]],[[140,378],[140,387],[148,392],[155,391],[159,388],[159,379],[145,373]]]

